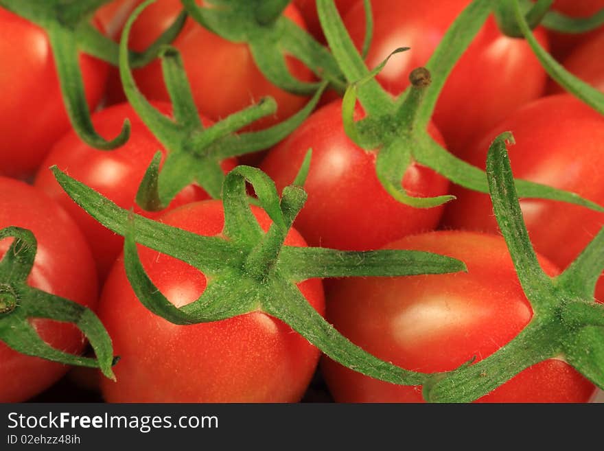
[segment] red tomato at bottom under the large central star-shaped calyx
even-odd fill
[[[252,210],[268,230],[264,210]],[[161,220],[217,235],[224,210],[220,201],[209,200],[175,209]],[[306,245],[294,230],[286,244]],[[174,305],[194,301],[205,290],[205,276],[195,268],[142,246],[139,254],[150,278]],[[321,281],[304,281],[299,288],[324,314]],[[99,315],[121,356],[117,382],[102,381],[108,402],[296,402],[318,362],[318,349],[262,312],[198,325],[165,321],[136,298],[121,257],[104,287]]]

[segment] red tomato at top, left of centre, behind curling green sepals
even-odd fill
[[[170,26],[181,10],[179,0],[159,0],[150,5],[132,27],[128,43],[130,48],[146,48]],[[300,27],[305,27],[294,6],[288,6],[286,16]],[[307,101],[307,97],[287,93],[266,80],[257,69],[246,44],[226,41],[192,19],[188,19],[172,45],[181,51],[198,110],[210,119],[227,117],[257,102],[261,97],[270,95],[277,102],[277,113],[260,119],[251,126],[251,129],[266,128],[290,117]],[[298,60],[288,58],[288,65],[299,80],[313,79],[310,69]],[[139,88],[148,98],[165,101],[170,99],[159,60],[134,73]]]

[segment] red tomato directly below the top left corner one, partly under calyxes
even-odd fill
[[[163,113],[170,113],[167,104],[155,104]],[[82,183],[97,190],[104,196],[113,200],[120,207],[134,207],[137,213],[148,218],[157,218],[161,212],[142,211],[135,203],[139,185],[154,154],[165,149],[155,139],[147,126],[128,104],[121,104],[107,108],[93,115],[93,123],[98,132],[105,136],[115,136],[119,132],[124,118],[129,117],[132,123],[130,139],[124,146],[111,151],[97,150],[83,143],[75,133],[69,132],[63,137],[46,158],[36,176],[35,185],[43,189],[51,198],[54,198],[64,207],[88,240],[101,280],[108,273],[111,265],[121,251],[123,239],[96,222],[86,211],[78,207],[63,191],[48,170],[51,165],[57,165],[61,170],[77,178]],[[205,125],[210,122],[205,120]],[[230,170],[235,166],[234,160],[225,161],[224,169]],[[168,209],[208,198],[200,187],[189,185],[172,200]]]

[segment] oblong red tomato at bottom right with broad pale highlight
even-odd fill
[[[340,279],[332,286],[327,319],[384,360],[426,373],[482,360],[531,321],[504,240],[495,235],[435,232],[387,246],[456,257],[467,273]],[[557,268],[540,259],[546,273]],[[351,302],[351,300],[354,300]],[[338,402],[422,402],[421,387],[397,386],[356,373],[327,358],[323,375]],[[522,371],[479,402],[586,402],[594,386],[562,360]]]

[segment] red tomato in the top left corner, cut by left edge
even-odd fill
[[[0,104],[0,175],[27,177],[71,124],[45,32],[2,8],[0,30],[0,86],[6,86]],[[103,94],[107,65],[80,55],[80,69],[86,100],[94,108]]]

